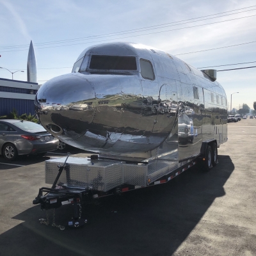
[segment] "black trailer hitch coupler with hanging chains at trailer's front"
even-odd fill
[[[45,193],[45,195],[43,195]],[[82,218],[82,204],[90,201],[92,198],[90,190],[86,188],[68,187],[64,184],[59,184],[56,188],[40,188],[38,196],[33,200],[33,204],[41,204],[41,210],[46,210],[46,219],[41,218],[41,224],[49,225],[49,209],[53,209],[52,227],[64,230],[62,225],[55,223],[55,211],[62,205],[72,204],[74,209],[73,217],[68,221],[68,227],[81,227],[87,220]]]

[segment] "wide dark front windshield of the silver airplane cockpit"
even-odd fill
[[[90,69],[137,70],[136,58],[132,56],[92,55]]]

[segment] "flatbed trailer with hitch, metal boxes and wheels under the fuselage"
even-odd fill
[[[212,153],[214,152],[214,153]],[[55,209],[74,205],[74,216],[68,221],[68,227],[81,227],[87,220],[82,218],[81,205],[92,204],[95,200],[109,195],[120,195],[134,189],[147,188],[166,183],[180,173],[200,163],[204,170],[210,170],[216,163],[217,147],[215,141],[202,144],[202,154],[184,161],[166,161],[154,159],[146,162],[117,161],[92,155],[88,158],[61,157],[45,161],[45,183],[51,188],[40,188],[33,204],[41,209],[53,209],[52,226],[56,225]],[[46,219],[41,223],[49,225]]]

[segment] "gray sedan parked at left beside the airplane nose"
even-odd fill
[[[42,125],[25,120],[0,120],[0,154],[7,160],[18,155],[45,154],[56,150],[59,140]]]

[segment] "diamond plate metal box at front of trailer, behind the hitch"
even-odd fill
[[[58,165],[62,166],[66,157],[45,161],[45,183],[53,184],[58,175]],[[122,184],[122,162],[112,160],[91,160],[68,157],[59,182],[68,186],[78,186],[108,191]]]

